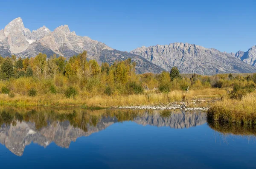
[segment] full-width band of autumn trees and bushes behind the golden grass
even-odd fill
[[[247,76],[193,74],[182,77],[177,67],[160,74],[135,73],[131,59],[109,65],[88,60],[87,52],[66,59],[63,56],[38,54],[33,58],[0,57],[1,93],[36,96],[63,94],[67,98],[96,95],[141,94],[145,90],[166,93],[172,90],[201,90],[203,88],[235,89],[249,93],[256,88],[256,73]]]

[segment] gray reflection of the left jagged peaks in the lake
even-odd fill
[[[109,121],[106,123],[100,121],[95,127],[88,125],[87,132],[78,127],[73,127],[69,121],[56,121],[47,127],[42,127],[40,130],[36,130],[35,123],[16,121],[15,126],[3,124],[0,127],[0,143],[18,156],[23,154],[25,146],[31,144],[31,142],[44,147],[54,142],[58,146],[68,148],[71,141],[76,141],[81,136],[88,136],[113,124],[111,122],[113,119],[109,118]]]

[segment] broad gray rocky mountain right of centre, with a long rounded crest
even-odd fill
[[[234,58],[231,54],[188,43],[143,46],[130,53],[143,56],[165,70],[177,66],[181,73],[212,75],[256,72],[255,68]]]

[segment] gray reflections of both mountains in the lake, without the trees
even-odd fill
[[[157,127],[171,127],[175,129],[195,127],[206,123],[206,113],[172,113],[169,117],[162,117],[159,112],[153,114],[145,112],[133,120],[137,124],[152,125]],[[15,155],[23,155],[27,145],[36,143],[40,146],[48,146],[51,142],[68,148],[71,141],[76,141],[82,136],[89,136],[94,132],[104,130],[108,126],[119,122],[116,117],[103,117],[96,126],[87,124],[87,132],[73,127],[69,121],[48,122],[47,127],[36,129],[34,122],[15,121],[16,125],[3,124],[0,127],[0,143],[5,145]]]

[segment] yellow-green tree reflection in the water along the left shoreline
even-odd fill
[[[116,118],[118,122],[131,121],[143,114],[143,111],[134,110],[85,110],[81,108],[65,109],[65,110],[47,110],[44,108],[13,108],[1,107],[0,109],[0,125],[12,124],[15,121],[26,121],[35,123],[37,130],[47,127],[48,123],[54,121],[69,121],[74,127],[78,127],[87,132],[87,126],[96,126],[103,117]]]

